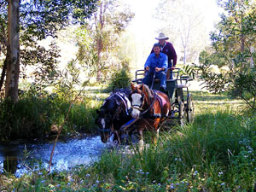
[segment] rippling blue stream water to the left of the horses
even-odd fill
[[[7,170],[16,177],[43,166],[49,167],[52,143],[15,142],[0,144],[0,172]],[[100,137],[86,137],[79,140],[58,142],[52,161],[52,171],[68,170],[77,165],[89,165],[97,160],[108,145]]]

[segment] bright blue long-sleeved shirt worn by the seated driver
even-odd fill
[[[159,67],[159,68],[166,68],[168,66],[167,63],[167,55],[160,53],[159,57],[157,58],[154,53],[148,55],[148,59],[145,62],[144,68],[149,67],[149,72],[154,73],[154,68]]]

